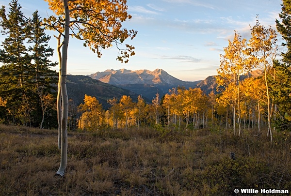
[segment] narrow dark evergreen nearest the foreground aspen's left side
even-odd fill
[[[56,63],[52,63],[49,60],[49,57],[53,55],[53,49],[48,45],[50,36],[46,35],[45,28],[41,26],[38,11],[33,13],[32,20],[29,21],[28,30],[30,31],[28,43],[32,44],[29,46],[31,65],[27,70],[31,86],[29,89],[32,90],[32,95],[35,97],[31,101],[34,100],[38,108],[41,109],[41,114],[37,115],[36,122],[38,125],[40,123],[40,128],[42,128],[45,116],[52,106],[52,103],[49,103],[48,100],[55,101],[50,94],[56,90],[51,84],[57,83],[57,77],[56,72],[49,68],[54,67]],[[45,97],[51,97],[51,99],[44,99]],[[39,111],[36,113],[39,113]],[[37,124],[35,125],[38,126]]]

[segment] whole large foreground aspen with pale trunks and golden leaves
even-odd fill
[[[64,176],[67,165],[67,119],[68,97],[66,90],[66,68],[69,37],[84,40],[88,46],[101,57],[101,49],[118,48],[127,38],[133,39],[137,33],[134,30],[122,29],[122,22],[131,18],[127,13],[126,0],[45,0],[49,3],[56,16],[46,18],[44,22],[48,29],[57,30],[63,41],[60,66],[60,91],[62,98],[61,113],[61,164],[57,174]],[[61,39],[61,37],[59,37]],[[60,42],[59,42],[60,43]],[[119,48],[118,48],[119,49]],[[134,55],[134,47],[126,44],[126,49],[119,49],[117,60],[128,62],[129,56]],[[61,54],[61,53],[59,53]],[[60,108],[59,108],[60,110]]]

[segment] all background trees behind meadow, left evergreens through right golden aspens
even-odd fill
[[[1,33],[7,37],[0,49],[0,122],[34,127],[57,127],[56,73],[50,67],[53,49],[49,36],[41,26],[37,11],[32,18],[21,12],[17,0],[0,9]],[[182,131],[213,126],[225,126],[241,135],[242,129],[268,127],[266,134],[291,130],[291,9],[283,0],[282,22],[276,20],[287,52],[283,60],[276,59],[276,33],[271,27],[257,24],[251,28],[247,42],[235,31],[234,39],[224,48],[216,77],[219,94],[205,94],[201,89],[173,88],[147,104],[142,96],[133,102],[130,96],[109,99],[105,111],[95,97],[85,95],[77,106],[69,100],[70,130],[87,131],[131,126],[163,126]],[[259,77],[241,79],[253,68],[260,68]]]

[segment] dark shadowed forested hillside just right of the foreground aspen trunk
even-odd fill
[[[110,107],[107,103],[108,99],[113,97],[120,99],[122,95],[129,95],[133,101],[137,102],[138,94],[85,75],[67,75],[66,85],[68,98],[73,99],[78,106],[83,103],[85,94],[95,96],[104,109]],[[149,102],[150,100],[146,101]]]

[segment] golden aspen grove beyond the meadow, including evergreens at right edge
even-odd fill
[[[234,39],[224,48],[220,68],[216,77],[218,90],[214,95],[206,95],[200,89],[172,89],[162,100],[159,94],[146,104],[141,97],[132,103],[129,96],[123,96],[119,102],[116,98],[108,102],[111,108],[102,111],[94,99],[95,109],[86,105],[89,97],[85,96],[83,112],[78,119],[79,127],[85,130],[98,130],[104,126],[127,128],[128,126],[149,126],[161,124],[168,129],[174,127],[180,131],[186,128],[205,128],[214,124],[233,127],[233,133],[241,135],[242,127],[268,127],[267,135],[273,140],[273,132],[291,130],[291,5],[283,0],[282,22],[276,20],[277,30],[282,34],[288,51],[282,53],[283,60],[276,59],[277,34],[271,26],[268,28],[259,23],[251,27],[252,37],[247,42],[235,31]],[[257,78],[241,76],[254,68],[263,74]],[[100,109],[97,109],[100,108]],[[96,111],[97,109],[97,111]],[[97,112],[98,115],[93,113]],[[98,122],[92,123],[92,117],[98,116]],[[90,123],[89,123],[90,122]]]

